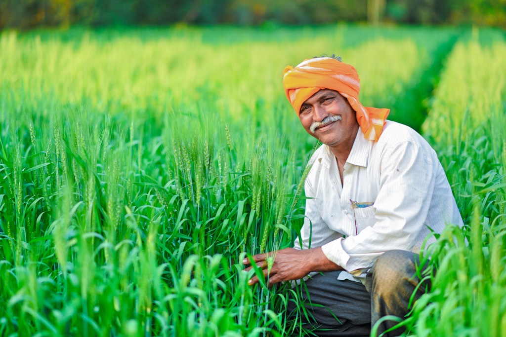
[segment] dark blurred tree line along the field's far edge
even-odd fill
[[[506,28],[506,0],[0,0],[0,29],[336,21]]]

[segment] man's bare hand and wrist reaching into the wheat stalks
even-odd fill
[[[267,280],[269,276],[269,286],[281,282],[303,278],[312,271],[331,271],[341,270],[340,266],[328,260],[321,247],[298,250],[294,248],[285,248],[280,251],[257,254],[251,257],[257,266],[264,271],[264,277]],[[268,270],[268,258],[271,260],[272,267]],[[250,261],[244,259],[243,264],[249,265]],[[249,271],[252,266],[244,269]],[[248,284],[253,285],[258,282],[258,277],[251,277]]]

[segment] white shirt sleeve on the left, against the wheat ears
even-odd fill
[[[296,249],[310,249],[323,246],[332,242],[343,235],[328,227],[323,221],[320,212],[318,211],[319,202],[315,198],[315,192],[310,179],[306,179],[304,183],[304,190],[306,197],[306,211],[304,218],[304,225],[301,229],[301,236],[294,240],[294,247]]]

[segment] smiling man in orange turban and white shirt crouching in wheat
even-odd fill
[[[390,110],[362,106],[355,68],[309,59],[286,67],[283,84],[302,125],[323,145],[305,181],[311,199],[296,248],[253,260],[270,284],[312,276],[307,324],[315,333],[367,336],[381,317],[407,314],[419,282],[416,253],[430,230],[462,219],[434,150],[411,128],[387,121]],[[274,256],[269,271],[267,256]],[[395,324],[386,320],[378,332]]]

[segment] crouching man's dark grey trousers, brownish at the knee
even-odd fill
[[[338,280],[341,271],[313,276],[294,288],[309,313],[307,317],[299,316],[303,329],[317,336],[369,336],[371,327],[381,317],[405,317],[410,309],[409,299],[420,281],[415,275],[417,265],[417,254],[395,250],[376,260],[367,273],[365,286],[361,282]],[[414,299],[429,287],[426,282],[420,284]],[[297,304],[290,301],[288,310],[293,317]],[[378,335],[396,324],[384,321]],[[398,328],[385,336],[398,336],[402,332],[404,329]],[[294,333],[298,334],[298,331]]]

